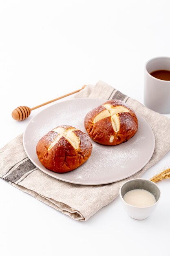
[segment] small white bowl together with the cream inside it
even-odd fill
[[[131,218],[143,220],[155,210],[161,192],[159,187],[146,179],[128,180],[119,190],[124,209]]]

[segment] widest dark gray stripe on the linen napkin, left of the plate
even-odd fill
[[[25,173],[35,169],[36,166],[30,161],[26,160],[24,163],[20,164],[16,169],[13,170],[8,176],[5,177],[5,180],[16,182],[19,180]]]

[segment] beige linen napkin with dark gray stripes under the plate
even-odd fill
[[[88,85],[76,94],[76,98],[120,99],[138,112],[150,124],[155,135],[155,151],[148,164],[131,178],[139,178],[152,165],[156,164],[170,150],[170,119],[156,113],[135,99],[99,81],[95,86]],[[142,157],[142,156],[141,156]],[[19,135],[0,150],[0,177],[16,188],[29,193],[36,199],[62,211],[79,221],[88,220],[119,194],[123,181],[84,186],[57,180],[40,171],[26,156]]]

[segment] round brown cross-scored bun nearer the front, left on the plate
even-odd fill
[[[57,126],[36,147],[42,165],[56,173],[66,173],[82,165],[91,155],[88,136],[73,126]]]

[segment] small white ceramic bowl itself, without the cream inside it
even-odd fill
[[[131,204],[128,204],[124,201],[124,195],[132,190],[132,189],[145,189],[152,193],[155,196],[156,202],[155,204],[152,204],[147,207],[137,207],[133,206]],[[125,211],[128,213],[128,215],[136,220],[144,220],[150,214],[155,210],[159,198],[161,195],[161,191],[159,190],[159,187],[152,181],[146,180],[146,179],[133,179],[133,180],[128,180],[124,184],[121,185],[120,190],[119,190],[121,202],[123,204],[123,207]]]

